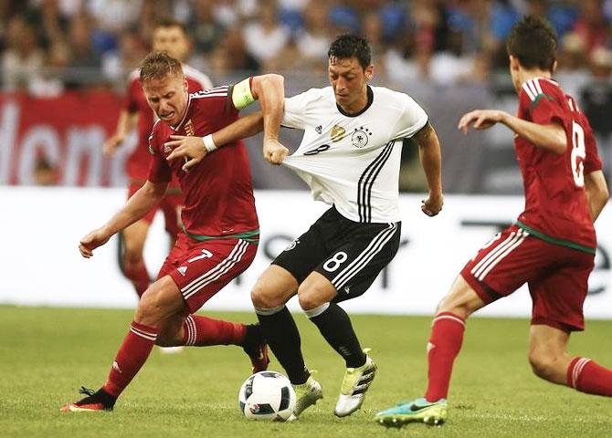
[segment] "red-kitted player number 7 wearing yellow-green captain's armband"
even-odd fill
[[[160,119],[151,135],[153,160],[148,180],[107,224],[82,238],[79,250],[89,258],[111,235],[142,218],[164,197],[173,173],[185,193],[185,234],[178,236],[157,281],[142,295],[106,383],[99,391],[87,391],[84,399],[64,406],[64,412],[112,410],[149,357],[153,344],[240,345],[251,358],[253,371],[268,366],[259,326],[196,316],[194,312],[247,269],[255,256],[259,223],[247,152],[237,140],[261,130],[261,114],[238,119],[237,113],[259,99],[264,152],[269,161],[280,163],[287,153],[278,141],[283,79],[263,75],[234,87],[189,94],[180,62],[165,52],[153,52],[142,63],[141,82]],[[175,147],[193,143],[204,144],[206,151],[213,153],[196,164],[168,158]],[[225,146],[216,151],[215,144]]]

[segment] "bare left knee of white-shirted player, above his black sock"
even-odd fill
[[[289,301],[298,290],[298,280],[287,269],[270,265],[259,276],[251,290],[251,301],[258,309],[278,308]]]

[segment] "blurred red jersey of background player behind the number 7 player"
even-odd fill
[[[189,84],[189,92],[194,93],[201,89],[212,89],[213,84],[204,74],[195,68],[183,66],[185,78]],[[138,144],[127,161],[126,172],[132,182],[144,183],[149,174],[149,135],[155,122],[153,110],[149,107],[147,99],[142,92],[140,70],[132,71],[129,78],[126,108],[128,112],[138,112]]]

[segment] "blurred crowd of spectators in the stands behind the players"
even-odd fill
[[[150,48],[154,24],[174,17],[192,38],[189,64],[216,83],[237,71],[241,77],[277,71],[308,75],[314,79],[303,84],[322,86],[329,43],[352,31],[373,47],[376,81],[420,93],[433,117],[440,88],[468,90],[456,94],[457,107],[465,99],[474,100],[472,107],[503,104],[512,95],[505,38],[526,14],[554,25],[555,76],[582,102],[609,157],[612,0],[3,0],[0,81],[5,91],[38,97],[67,89],[121,91]],[[515,109],[512,97],[509,109]],[[438,120],[454,129],[455,112]],[[507,193],[520,181],[513,175]],[[478,191],[483,184],[470,181],[462,190]]]

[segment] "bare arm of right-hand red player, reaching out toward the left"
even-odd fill
[[[554,153],[564,153],[567,148],[565,130],[561,125],[556,123],[540,125],[501,110],[470,111],[461,117],[458,128],[467,134],[470,126],[474,130],[488,130],[496,123],[506,125],[537,148]]]

